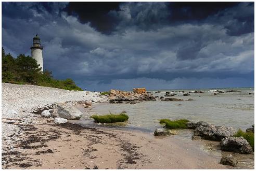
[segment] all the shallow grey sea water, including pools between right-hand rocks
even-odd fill
[[[220,89],[231,90],[231,89]],[[151,91],[155,96],[164,96],[166,92],[176,93],[174,98],[182,98],[183,102],[165,102],[165,101],[149,101],[131,104],[108,104],[98,103],[93,104],[89,109],[91,115],[106,115],[111,113],[120,113],[126,111],[129,115],[129,121],[124,123],[112,123],[112,124],[97,124],[88,117],[83,117],[80,120],[74,120],[73,123],[78,123],[84,126],[104,126],[111,127],[111,129],[121,130],[135,130],[140,132],[150,133],[153,136],[153,131],[156,128],[163,127],[159,124],[159,119],[167,118],[171,120],[175,119],[188,119],[190,121],[206,121],[218,126],[232,126],[235,129],[247,129],[254,124],[254,89],[253,88],[237,88],[233,90],[240,90],[241,92],[227,92],[217,93],[217,95],[211,95],[210,89],[202,90],[204,93],[190,93],[190,96],[183,96],[182,90],[162,90],[164,93],[155,93]],[[184,90],[189,92],[190,90]],[[252,93],[252,95],[249,95]],[[188,98],[193,98],[194,101],[186,101]],[[181,104],[181,105],[180,105]],[[78,106],[79,107],[79,106]],[[83,107],[79,107],[81,111],[88,110]],[[86,111],[88,112],[88,111]],[[177,130],[178,135],[171,136],[171,138],[191,141],[193,136],[193,130],[184,129]],[[219,147],[219,142],[206,141],[200,145],[202,150],[211,153],[216,157],[223,155]],[[214,144],[214,145],[212,145]],[[216,148],[216,147],[217,148]],[[238,160],[237,168],[254,168],[254,154],[235,154]]]

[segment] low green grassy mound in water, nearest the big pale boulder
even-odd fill
[[[125,113],[120,113],[118,115],[110,113],[109,115],[103,116],[93,115],[90,118],[93,118],[97,123],[114,123],[127,121],[129,117]]]

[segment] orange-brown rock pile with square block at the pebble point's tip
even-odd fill
[[[146,92],[146,89],[134,89],[134,92],[125,92],[120,90],[110,90],[110,103],[132,103],[142,101],[156,101],[156,97]]]

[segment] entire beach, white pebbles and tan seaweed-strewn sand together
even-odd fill
[[[142,132],[55,124],[53,118],[39,115],[42,108],[54,108],[55,103],[88,99],[106,102],[105,97],[94,92],[2,83],[2,168],[232,168],[221,165],[220,156],[200,148],[205,144],[202,140],[182,141],[174,135],[154,137]],[[18,119],[17,124],[3,118]]]

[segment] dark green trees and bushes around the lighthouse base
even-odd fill
[[[31,56],[20,54],[14,58],[2,48],[2,82],[83,91],[72,79],[57,80],[53,78],[52,72],[44,70],[42,73],[41,69]]]

